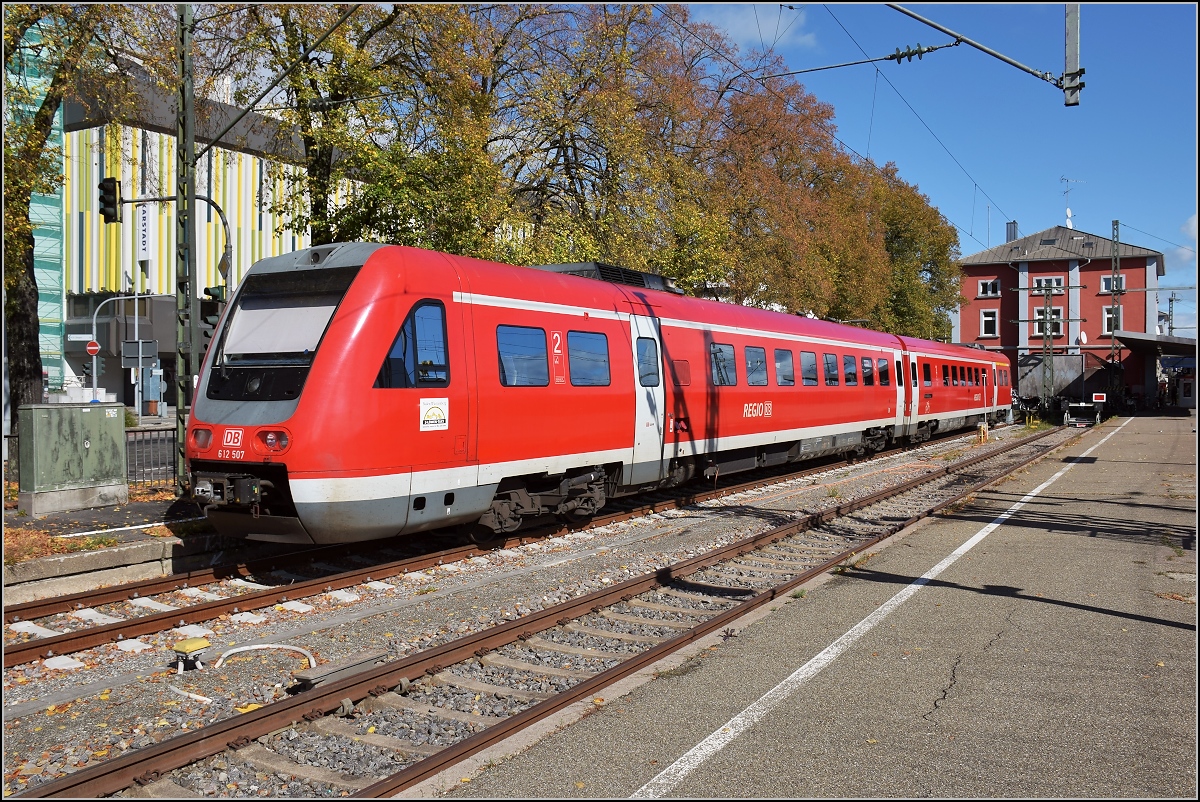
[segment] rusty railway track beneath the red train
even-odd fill
[[[961,433],[944,436],[931,445],[960,438]],[[877,456],[904,451],[904,448],[894,448]],[[304,599],[312,597],[334,594],[336,600],[348,602],[353,593],[347,588],[368,585],[388,589],[391,587],[386,581],[389,579],[480,557],[488,551],[512,549],[539,539],[679,509],[847,463],[848,460],[823,460],[800,469],[758,471],[749,479],[726,479],[713,483],[709,489],[697,490],[692,485],[617,499],[610,505],[611,509],[584,523],[547,521],[528,532],[486,546],[464,544],[444,547],[436,535],[410,537],[401,544],[341,544],[6,606],[4,668],[66,657],[112,642],[122,645],[122,651],[136,651],[143,646],[150,647],[137,640],[140,636],[173,629],[179,629],[185,635],[200,635],[205,622],[222,616],[240,616],[240,621],[253,621],[246,618],[246,615],[277,605],[307,612],[311,605]],[[379,555],[398,556],[398,552],[406,556],[383,562],[378,559]],[[347,564],[354,559],[359,564]]]

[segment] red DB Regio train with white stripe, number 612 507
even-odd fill
[[[611,265],[335,244],[247,273],[186,456],[223,533],[494,537],[694,477],[995,423],[1009,371],[996,353],[688,298]]]

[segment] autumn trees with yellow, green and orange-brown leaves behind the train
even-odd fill
[[[44,25],[58,8],[52,22],[76,25],[58,24],[44,65],[60,96],[106,61],[120,94],[112,64],[131,56],[166,91],[178,85],[173,5],[19,8],[6,23]],[[245,106],[287,71],[256,110],[284,122],[281,152],[300,155],[280,166],[288,190],[260,203],[313,244],[604,261],[733,303],[948,336],[954,228],[896,166],[847,152],[832,106],[794,77],[767,77],[788,70],[776,54],[739,53],[685,6],[364,4],[338,23],[350,10],[194,10],[199,95]],[[74,35],[92,47],[72,49]],[[107,42],[120,49],[96,46]],[[22,142],[6,127],[6,285],[10,317],[36,321],[17,309],[36,292],[13,297],[31,271],[10,268],[25,262],[28,225],[8,211],[28,222],[38,180],[16,192],[7,178],[18,158],[44,175],[46,149]],[[36,354],[36,334],[17,341]]]

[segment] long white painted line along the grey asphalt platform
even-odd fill
[[[1133,420],[1132,418],[1129,420]],[[1079,461],[1086,457],[1088,454],[1104,445],[1110,437],[1116,435],[1118,431],[1126,427],[1129,423],[1126,420],[1123,424],[1114,429],[1104,439],[1087,449],[1079,456],[1074,457],[1068,462],[1058,473],[1054,474],[1040,485],[1031,490],[1021,501],[1016,502],[1007,510],[1001,513],[996,520],[994,520],[988,526],[979,529],[976,534],[971,537],[966,543],[955,549],[949,557],[942,562],[934,565],[923,576],[916,579],[912,585],[904,588],[890,599],[888,599],[883,605],[877,608],[869,616],[863,618],[860,622],[854,624],[850,632],[835,640],[833,644],[827,646],[824,651],[814,657],[811,660],[797,669],[790,677],[780,682],[778,686],[768,690],[766,694],[758,698],[752,705],[746,707],[744,711],[731,718],[724,725],[716,729],[707,738],[697,743],[690,752],[676,760],[673,764],[667,766],[665,770],[659,772],[649,783],[637,789],[630,798],[654,798],[660,797],[665,794],[671,792],[679,783],[684,780],[691,772],[696,771],[706,760],[715,755],[718,752],[724,749],[727,744],[732,743],[736,737],[749,730],[756,722],[763,718],[767,713],[778,707],[785,699],[796,693],[800,686],[815,677],[821,672],[827,665],[833,663],[842,652],[850,648],[856,641],[858,641],[863,635],[871,632],[876,624],[883,621],[888,614],[899,608],[901,604],[908,600],[912,595],[917,593],[922,587],[929,585],[938,574],[954,564],[959,557],[971,551],[977,544],[979,544],[984,538],[1000,528],[1000,526],[1010,519],[1016,510],[1025,507],[1030,501],[1037,497],[1043,490],[1058,481],[1060,478],[1073,467],[1079,465]]]

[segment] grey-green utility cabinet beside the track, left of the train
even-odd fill
[[[18,510],[46,515],[128,503],[125,405],[25,405],[17,432]]]

